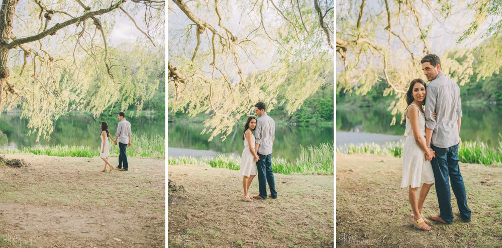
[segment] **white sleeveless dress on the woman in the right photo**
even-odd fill
[[[415,104],[411,105],[417,107]],[[406,108],[406,112],[408,112],[408,108]],[[418,111],[420,137],[423,137],[425,141],[425,114],[420,110]],[[431,162],[425,158],[424,151],[422,151],[417,141],[415,141],[412,125],[406,112],[407,137],[405,139],[405,149],[403,150],[403,179],[401,180],[401,188],[408,188],[408,186],[418,188],[423,183],[434,183],[434,172],[432,171]]]

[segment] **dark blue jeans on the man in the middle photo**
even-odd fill
[[[275,179],[274,173],[272,172],[272,154],[262,155],[258,153],[260,159],[256,162],[256,167],[258,169],[258,183],[260,185],[260,196],[263,199],[267,198],[267,182],[270,188],[270,196],[272,198],[277,197],[277,191],[275,191]]]

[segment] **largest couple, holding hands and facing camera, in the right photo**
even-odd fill
[[[422,207],[434,183],[440,212],[431,214],[432,220],[444,224],[453,222],[449,182],[457,198],[457,215],[470,221],[471,210],[467,207],[464,181],[458,166],[462,117],[460,88],[441,71],[441,61],[435,54],[426,55],[421,63],[430,83],[426,85],[422,79],[415,79],[406,94],[407,138],[401,188],[409,188],[413,226],[430,230],[431,226],[427,225],[430,221],[424,217]]]

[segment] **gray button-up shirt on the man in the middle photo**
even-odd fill
[[[259,145],[258,153],[261,155],[272,154],[272,144],[275,139],[275,122],[264,113],[256,120],[256,144]]]

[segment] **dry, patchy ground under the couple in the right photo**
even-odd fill
[[[408,190],[400,189],[402,159],[337,154],[338,247],[502,247],[502,168],[460,163],[472,221],[431,221],[413,228]],[[458,211],[451,193],[453,212]],[[424,216],[439,211],[434,186]]]

